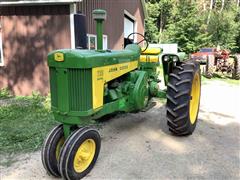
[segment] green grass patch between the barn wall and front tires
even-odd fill
[[[0,165],[3,166],[10,165],[19,154],[40,149],[47,133],[57,124],[50,111],[49,96],[33,94],[4,101],[10,100],[0,105]]]

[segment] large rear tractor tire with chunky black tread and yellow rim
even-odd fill
[[[167,119],[175,135],[189,135],[195,130],[200,105],[201,74],[196,61],[176,66],[169,75]]]

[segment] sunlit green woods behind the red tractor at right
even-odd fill
[[[201,47],[240,53],[240,0],[147,0],[146,37],[178,43],[192,53]]]

